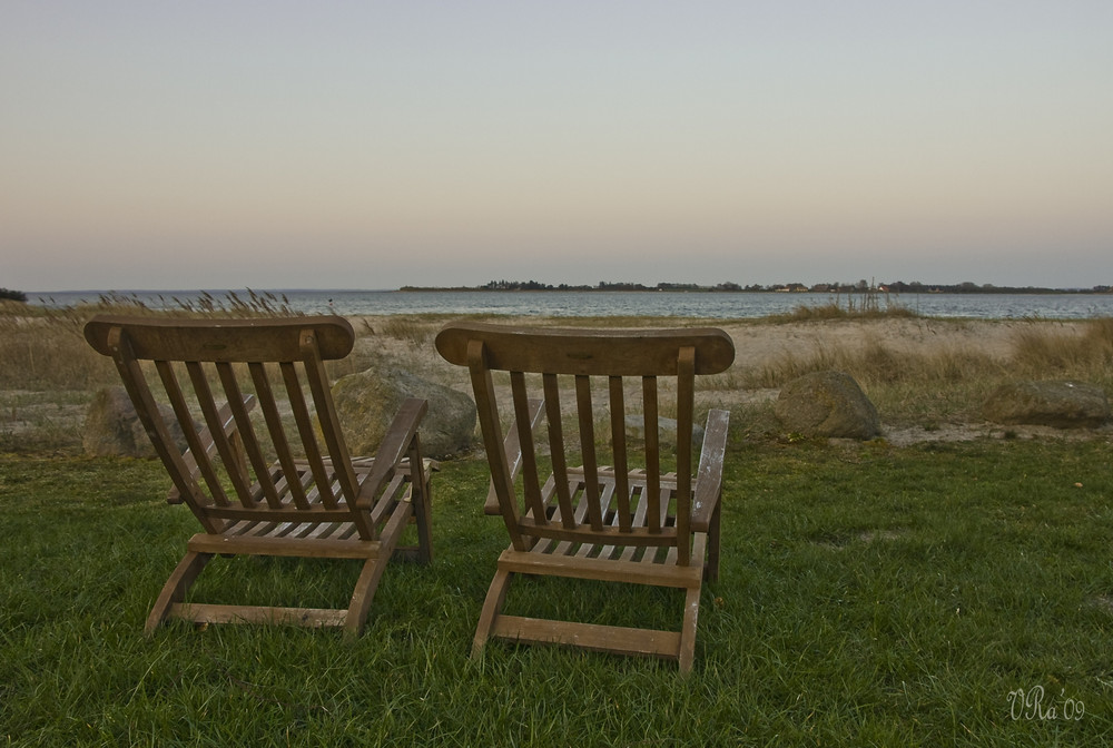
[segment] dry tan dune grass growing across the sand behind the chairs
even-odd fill
[[[175,314],[262,315],[283,314],[280,299],[250,295],[247,299],[209,299],[201,307],[180,307]],[[902,324],[905,311],[896,305],[866,304],[800,311],[795,322],[819,328],[840,325]],[[96,313],[155,314],[134,299],[106,297],[99,304],[49,309],[8,303],[0,305],[0,451],[37,452],[80,449],[82,407],[100,387],[115,386],[118,376],[111,362],[97,355],[81,329]],[[166,314],[165,312],[162,314]],[[361,372],[384,358],[449,386],[466,387],[463,375],[442,362],[432,350],[432,338],[449,315],[364,317],[356,319],[356,347],[341,362],[329,362],[334,380]],[[475,316],[474,318],[491,318]],[[505,318],[495,317],[505,322]],[[513,321],[511,321],[513,322]],[[602,317],[531,319],[536,324],[580,326],[719,325],[745,329],[758,325],[794,322],[769,317],[760,321]],[[926,322],[945,328],[961,321]],[[991,355],[976,344],[919,351],[863,332],[861,343],[840,346],[831,341],[814,346],[787,346],[784,354],[754,363],[745,344],[735,365],[726,373],[701,381],[705,405],[728,407],[745,415],[748,427],[768,433],[776,430],[768,400],[750,403],[746,393],[775,391],[802,374],[838,370],[850,374],[881,413],[883,422],[899,427],[935,429],[938,424],[982,420],[982,404],[989,393],[1016,378],[1074,378],[1113,391],[1113,318],[1078,321],[1070,325],[1051,321],[1013,323],[1012,350]],[[453,378],[455,377],[455,378]],[[459,381],[457,381],[459,380]],[[739,396],[741,393],[742,396]]]

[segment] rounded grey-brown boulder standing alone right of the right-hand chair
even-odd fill
[[[786,384],[774,404],[784,426],[805,436],[874,439],[877,409],[849,374],[812,372]]]

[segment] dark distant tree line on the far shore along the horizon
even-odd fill
[[[711,292],[729,291],[746,293],[815,293],[815,294],[1107,294],[1113,286],[1093,286],[1092,288],[1045,288],[1038,286],[995,286],[991,283],[976,284],[969,280],[956,284],[926,284],[914,280],[906,283],[875,283],[866,279],[856,283],[775,283],[771,285],[751,284],[742,286],[737,283],[720,283],[713,286],[701,286],[695,283],[658,283],[647,286],[641,283],[600,280],[598,285],[569,285],[562,283],[552,285],[538,280],[490,280],[482,286],[427,287],[403,286],[401,291],[689,291]]]

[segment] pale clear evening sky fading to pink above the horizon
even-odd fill
[[[1111,0],[0,0],[0,287],[1113,284]]]

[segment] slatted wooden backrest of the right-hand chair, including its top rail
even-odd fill
[[[733,344],[725,332],[451,324],[437,335],[436,348],[446,361],[470,370],[492,489],[516,550],[529,550],[539,538],[572,543],[674,545],[682,562],[687,562],[695,377],[726,371],[733,362]],[[510,373],[513,415],[509,425],[521,445],[520,464],[504,447],[500,406],[505,398],[500,398],[492,372]],[[529,376],[534,374],[540,377]],[[574,412],[575,430],[572,434],[564,427],[561,406],[562,388],[567,388],[570,377],[568,400]],[[673,410],[662,407],[671,398],[662,397],[662,390],[669,387],[662,386],[660,380],[671,381],[674,386]],[[593,390],[593,381],[601,386]],[[627,393],[630,381],[640,391],[632,397]],[[539,444],[533,434],[538,404],[532,395],[538,388],[544,402],[548,445]],[[605,401],[599,413],[597,398]],[[643,443],[637,446],[634,440],[628,439],[630,400],[634,401],[630,410],[640,411],[636,421],[640,420],[644,433],[643,440],[637,440]],[[662,455],[661,419],[670,413],[676,419],[677,449],[671,455]],[[595,420],[600,415],[604,425],[602,433],[597,434]],[[577,437],[582,476],[579,470],[569,466],[570,457],[574,456],[570,442]],[[609,447],[604,459],[609,454],[612,466],[600,464],[599,443]],[[542,485],[541,476],[548,470],[541,469],[539,457],[543,459],[545,453],[552,463],[553,482]],[[674,464],[674,475],[673,471],[666,472],[669,463]],[[519,468],[521,495],[514,478]],[[638,469],[644,471],[644,480],[638,480],[644,485],[643,496],[631,493],[629,474]],[[583,492],[573,505],[575,498],[570,484],[575,485],[580,480]],[[613,493],[604,484],[612,484]],[[676,499],[670,508],[673,486]],[[551,492],[555,492],[555,511],[549,509]],[[634,504],[644,512],[643,518],[637,515]],[[670,520],[670,515],[674,519]]]

